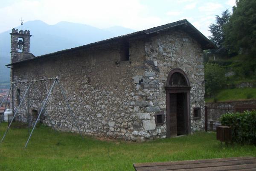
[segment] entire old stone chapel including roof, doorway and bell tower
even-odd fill
[[[143,141],[204,129],[203,50],[215,46],[187,20],[36,57],[30,31],[10,34],[11,82],[58,77],[85,135]],[[31,113],[49,85],[32,84]],[[28,85],[16,86],[14,109]],[[53,90],[41,122],[78,132],[59,93]]]

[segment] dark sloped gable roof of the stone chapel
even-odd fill
[[[53,52],[53,53],[48,53],[48,54],[45,54],[45,55],[37,56],[37,57],[32,58],[32,59],[17,61],[17,62],[14,62],[12,64],[8,64],[6,66],[11,66],[13,64],[17,64],[17,63],[21,63],[21,62],[25,62],[25,61],[32,61],[32,60],[36,60],[36,59],[40,59],[40,58],[50,57],[52,55],[57,55],[57,54],[65,53],[65,52],[70,52],[70,51],[77,50],[77,49],[89,48],[89,47],[92,47],[92,46],[96,46],[96,45],[100,45],[100,44],[104,44],[104,43],[109,43],[109,42],[112,42],[112,41],[117,41],[117,40],[120,40],[120,39],[123,39],[123,38],[132,38],[132,37],[136,37],[136,36],[139,36],[139,35],[150,35],[152,33],[160,32],[160,31],[170,29],[170,28],[175,28],[175,27],[179,27],[183,31],[187,32],[196,41],[198,41],[198,43],[201,45],[203,50],[216,48],[216,46],[208,38],[206,38],[201,32],[199,32],[198,29],[196,29],[191,23],[189,23],[188,20],[184,19],[184,20],[179,20],[179,21],[173,22],[173,23],[165,24],[165,25],[162,25],[162,26],[153,27],[151,29],[145,29],[145,30],[142,30],[142,31],[139,31],[139,32],[134,32],[134,33],[130,33],[130,34],[127,34],[127,35],[118,36],[118,37],[115,37],[115,38],[109,38],[109,39],[105,39],[103,41],[98,41],[98,42],[95,42],[95,43],[90,43],[90,44],[86,44],[86,45],[83,45],[83,46],[74,47],[74,48],[71,48],[71,49],[65,49],[65,50],[61,50],[61,51],[57,51],[57,52]]]

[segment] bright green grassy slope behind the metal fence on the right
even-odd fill
[[[217,101],[234,101],[256,99],[256,88],[234,88],[221,90],[215,98]],[[213,102],[214,98],[205,98],[205,102]]]

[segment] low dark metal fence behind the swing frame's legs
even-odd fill
[[[13,115],[8,116],[8,125],[12,121]],[[25,127],[32,127],[35,124],[37,119],[37,115],[29,114],[28,113],[17,113],[15,119],[12,122],[11,127],[13,128],[25,128]]]

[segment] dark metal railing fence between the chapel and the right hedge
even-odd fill
[[[227,108],[207,107],[205,106],[205,130],[215,131],[216,127],[221,125],[220,117],[224,113],[244,112],[245,110],[256,110],[255,105],[244,105]]]

